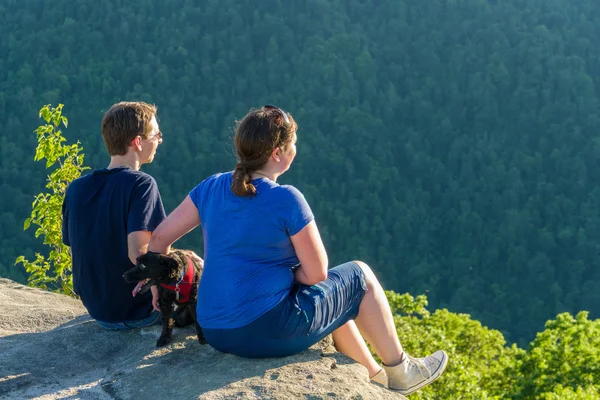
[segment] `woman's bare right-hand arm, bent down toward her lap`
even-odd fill
[[[300,267],[295,272],[296,282],[314,285],[327,279],[327,252],[315,221],[291,237]]]

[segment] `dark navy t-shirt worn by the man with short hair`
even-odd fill
[[[63,243],[71,246],[73,287],[92,318],[125,322],[152,312],[152,295],[133,297],[123,273],[133,264],[127,235],[165,219],[156,181],[128,167],[101,169],[71,182],[63,203]]]

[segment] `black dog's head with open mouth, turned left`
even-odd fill
[[[133,290],[134,296],[147,292],[152,285],[177,282],[185,266],[179,258],[171,254],[148,252],[137,258],[136,266],[125,272],[123,279],[130,283],[138,282]]]

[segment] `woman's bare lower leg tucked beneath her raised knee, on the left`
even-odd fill
[[[360,335],[354,321],[348,321],[332,333],[335,348],[354,361],[362,364],[369,371],[369,377],[377,374],[381,367],[371,355],[364,339]]]

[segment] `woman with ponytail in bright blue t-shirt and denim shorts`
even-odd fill
[[[202,224],[198,323],[217,350],[283,357],[332,333],[338,351],[364,365],[372,380],[410,394],[438,378],[448,357],[437,351],[417,359],[402,350],[384,291],[365,263],[327,269],[304,196],[276,183],[296,156],[297,128],[275,106],[251,110],[236,129],[235,170],[192,189],[154,231],[149,250],[167,253]]]

